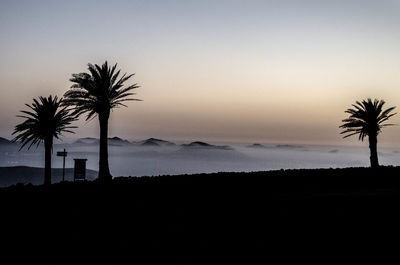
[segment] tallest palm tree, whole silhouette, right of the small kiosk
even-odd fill
[[[98,117],[100,123],[99,180],[111,180],[108,165],[108,118],[112,109],[125,106],[124,101],[138,100],[127,98],[137,84],[124,87],[124,83],[134,74],[126,73],[120,78],[121,70],[116,71],[117,64],[109,67],[107,61],[99,66],[88,64],[89,73],[72,74],[74,84],[65,94],[65,103],[75,106],[75,114],[87,113],[86,120]]]

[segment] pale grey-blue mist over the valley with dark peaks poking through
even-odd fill
[[[97,138],[84,137],[71,143],[56,143],[53,147],[53,181],[61,180],[62,158],[56,152],[66,149],[67,175],[72,180],[74,158],[87,159],[89,178],[98,170]],[[149,138],[128,141],[120,137],[108,139],[110,170],[118,176],[159,176],[214,172],[251,172],[295,168],[367,167],[368,148],[324,145],[294,145],[268,143],[210,143],[193,141],[178,143]],[[31,177],[28,167],[43,168],[43,146],[18,151],[18,143],[0,138],[0,185],[12,183],[41,184],[40,174]],[[380,148],[382,165],[398,165],[400,149]],[[20,167],[23,167],[22,169]],[[12,171],[10,167],[19,167]],[[4,169],[8,168],[8,169]],[[15,173],[15,174],[14,174]],[[11,175],[12,176],[11,176]],[[93,175],[93,176],[92,176]],[[12,180],[15,181],[12,181]]]

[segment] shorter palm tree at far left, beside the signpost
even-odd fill
[[[36,148],[43,141],[45,150],[45,170],[44,184],[51,184],[51,151],[53,148],[53,137],[59,139],[63,132],[69,132],[75,126],[70,126],[75,121],[75,116],[71,115],[67,107],[62,107],[62,99],[57,96],[39,97],[33,99],[32,105],[25,104],[29,111],[21,110],[23,115],[17,117],[24,118],[25,121],[16,125],[13,135],[14,142],[21,144],[19,150],[30,143],[28,150],[36,144]]]

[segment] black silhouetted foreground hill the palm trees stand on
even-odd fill
[[[0,189],[0,249],[2,258],[30,264],[385,263],[399,245],[399,173],[282,170],[13,186]]]

